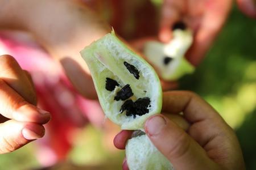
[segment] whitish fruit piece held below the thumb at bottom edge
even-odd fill
[[[130,170],[171,170],[172,164],[151,143],[147,135],[131,138],[126,145],[126,161]]]

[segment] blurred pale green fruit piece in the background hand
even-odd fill
[[[191,74],[195,68],[184,55],[192,44],[192,32],[189,29],[175,29],[174,39],[168,44],[149,41],[144,46],[144,54],[155,67],[163,80],[177,80],[185,74]]]

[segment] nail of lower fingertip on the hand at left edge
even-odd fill
[[[22,129],[22,135],[27,140],[34,140],[42,138],[44,135],[44,130],[32,127],[26,127]]]

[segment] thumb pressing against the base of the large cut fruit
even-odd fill
[[[148,118],[146,134],[174,169],[217,169],[204,149],[185,131],[163,115]]]

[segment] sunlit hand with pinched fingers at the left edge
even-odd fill
[[[35,107],[30,75],[11,56],[0,56],[0,154],[43,137],[51,116]]]

